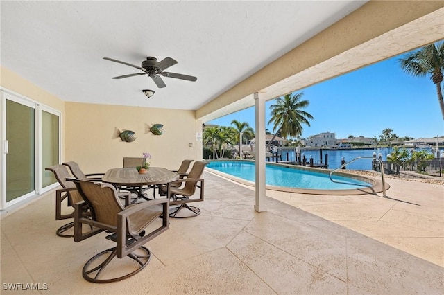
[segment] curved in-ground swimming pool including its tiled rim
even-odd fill
[[[255,182],[254,161],[209,161],[206,168],[244,184],[254,185]],[[348,183],[341,184],[332,182],[329,172],[330,170],[266,163],[266,186],[274,190],[325,195],[375,193],[373,187],[377,181],[373,179],[335,172],[332,176],[335,181]]]

